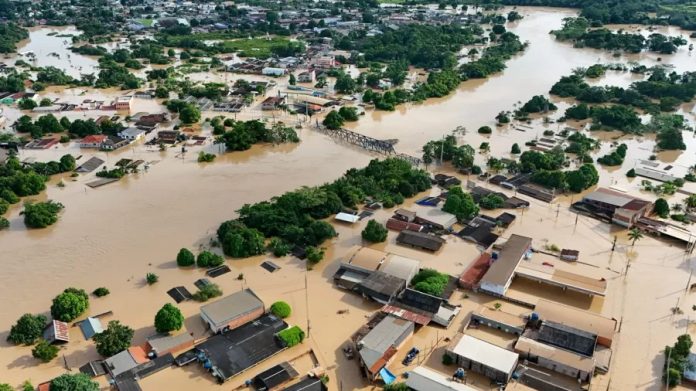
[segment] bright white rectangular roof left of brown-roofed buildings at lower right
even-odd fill
[[[460,357],[468,358],[471,361],[508,374],[515,369],[519,357],[515,352],[466,334],[462,335],[461,339],[456,341],[454,347],[448,350]]]

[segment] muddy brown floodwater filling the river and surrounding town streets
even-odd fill
[[[488,156],[508,157],[514,143],[523,150],[524,142],[539,137],[544,129],[558,130],[565,126],[576,128],[584,124],[543,124],[536,119],[533,130],[515,130],[512,126],[494,127],[494,117],[501,111],[513,110],[533,95],[548,95],[550,87],[574,68],[587,67],[597,62],[640,61],[645,65],[658,64],[657,55],[640,55],[614,58],[611,52],[574,49],[569,43],[555,41],[549,31],[560,28],[562,19],[575,15],[574,10],[522,8],[524,19],[516,22],[512,31],[523,41],[530,42],[525,52],[508,62],[507,69],[486,80],[470,80],[450,96],[432,99],[423,104],[408,104],[397,107],[395,112],[368,113],[352,129],[378,139],[399,139],[399,152],[420,156],[420,148],[431,139],[449,134],[457,126],[464,126],[467,133],[458,136],[474,148],[482,141],[491,143],[489,155],[477,154],[477,163],[484,165]],[[20,44],[19,51],[32,50],[37,53],[37,65],[54,65],[63,68],[72,76],[97,66],[96,59],[73,55],[72,61],[79,65],[65,67],[67,57],[61,59],[47,56],[56,51],[53,45],[70,38],[48,36],[48,32],[60,31],[75,34],[74,28],[36,29],[28,42]],[[665,34],[678,35],[673,28],[659,30]],[[59,33],[60,34],[60,33]],[[690,42],[696,42],[689,39]],[[22,46],[23,45],[23,46]],[[42,55],[39,55],[42,53]],[[63,52],[61,52],[63,53]],[[686,48],[673,56],[662,56],[662,63],[674,65],[678,72],[690,71],[696,65],[696,57]],[[79,60],[78,60],[79,58]],[[43,62],[42,62],[43,61]],[[82,67],[82,70],[79,70]],[[77,72],[77,73],[74,73]],[[92,72],[92,71],[90,71]],[[192,80],[226,80],[231,83],[237,75],[193,74]],[[248,77],[244,77],[247,78]],[[594,82],[627,86],[636,80],[628,72],[609,71],[607,76]],[[278,83],[284,83],[278,80]],[[62,101],[81,102],[84,99],[113,100],[123,92],[113,90],[85,90],[84,88],[49,88],[42,96],[60,98]],[[273,92],[269,92],[273,94]],[[559,110],[551,115],[558,118],[569,106],[567,101],[553,99]],[[3,107],[5,108],[5,107]],[[682,112],[693,124],[693,105],[684,105]],[[165,110],[158,100],[136,100],[131,114],[136,112],[161,112]],[[71,112],[70,119],[94,117],[90,112]],[[204,113],[212,117],[219,113]],[[5,110],[4,115],[14,120],[21,115],[14,109]],[[113,115],[108,112],[105,115]],[[61,113],[62,116],[62,113]],[[232,115],[228,115],[232,117]],[[274,119],[267,112],[249,110],[240,119]],[[288,124],[297,118],[284,116]],[[494,128],[493,134],[483,136],[476,133],[482,125]],[[204,133],[209,134],[205,129]],[[245,152],[227,153],[214,163],[201,164],[196,156],[201,147],[193,147],[183,158],[178,148],[160,152],[155,147],[136,144],[118,152],[104,153],[80,150],[76,143],[50,150],[24,150],[20,158],[37,160],[57,159],[65,153],[84,155],[78,165],[90,156],[98,156],[111,167],[121,158],[142,159],[150,163],[147,171],[128,175],[118,183],[91,189],[85,184],[94,180],[95,174],[84,174],[77,178],[57,176],[47,185],[47,191],[37,199],[51,199],[65,205],[65,210],[55,225],[42,230],[27,230],[21,207],[14,205],[6,215],[10,228],[0,233],[0,263],[3,284],[0,285],[0,381],[19,384],[27,379],[34,384],[64,373],[64,366],[76,368],[88,360],[97,359],[94,344],[82,337],[79,329],[71,328],[72,341],[61,350],[59,357],[48,364],[39,364],[31,357],[31,348],[13,346],[5,341],[11,325],[23,313],[46,313],[51,299],[64,288],[75,286],[87,292],[107,287],[111,294],[105,298],[90,296],[89,314],[113,311],[113,319],[136,330],[134,344],[140,344],[154,333],[153,319],[156,311],[172,300],[166,291],[184,285],[193,289],[193,282],[205,277],[202,270],[177,268],[175,257],[182,247],[197,253],[210,248],[211,238],[219,224],[236,217],[236,210],[247,203],[269,199],[300,186],[319,185],[332,181],[346,170],[362,167],[374,158],[357,148],[337,144],[332,139],[308,127],[298,131],[299,144],[279,146],[256,145]],[[610,141],[620,134],[597,133],[594,137]],[[660,153],[658,158],[676,165],[691,166],[696,163],[696,135],[684,133],[688,146],[686,151]],[[653,135],[624,136],[618,139],[629,146],[629,155],[621,167],[611,169],[598,166],[600,186],[618,185],[628,192],[646,199],[655,196],[639,191],[639,178],[631,180],[625,172],[638,159],[647,159],[653,154]],[[217,146],[208,144],[207,151],[219,153]],[[609,142],[592,156],[599,157],[610,151]],[[433,171],[446,170],[429,167]],[[465,180],[466,178],[461,177]],[[63,181],[65,187],[59,187]],[[687,184],[686,189],[696,191],[696,184]],[[495,188],[500,191],[500,188]],[[592,189],[590,189],[592,190]],[[432,194],[439,190],[432,189]],[[504,236],[520,234],[534,239],[535,247],[554,243],[565,248],[580,250],[582,267],[588,274],[605,278],[608,283],[605,298],[590,299],[586,296],[563,296],[552,289],[515,281],[511,292],[520,297],[543,297],[557,300],[590,311],[615,318],[621,324],[621,332],[615,339],[612,366],[608,375],[593,380],[593,390],[658,390],[663,365],[661,351],[672,344],[676,337],[687,330],[689,316],[693,316],[692,305],[696,295],[686,290],[691,281],[691,270],[696,259],[686,255],[676,245],[645,237],[631,246],[626,231],[615,226],[587,218],[577,217],[568,210],[572,201],[580,195],[562,197],[557,204],[545,204],[530,200],[531,207],[525,212],[514,212],[517,220]],[[674,196],[670,201],[679,199]],[[528,197],[521,197],[529,200]],[[407,201],[411,206],[413,200]],[[374,218],[384,223],[393,210],[380,210]],[[487,212],[497,215],[496,211]],[[285,300],[293,308],[289,324],[307,328],[309,319],[310,337],[301,347],[283,352],[283,359],[297,360],[298,368],[306,372],[306,358],[299,357],[308,349],[317,355],[319,363],[328,369],[330,390],[372,389],[360,377],[355,361],[348,361],[341,347],[366,321],[366,317],[380,306],[363,300],[358,295],[337,289],[332,276],[338,262],[351,248],[361,244],[360,231],[366,221],[354,226],[336,225],[339,236],[327,243],[326,256],[314,270],[305,274],[305,264],[295,258],[274,259],[281,266],[275,273],[268,273],[259,263],[271,258],[270,254],[245,260],[228,259],[232,272],[214,280],[225,295],[236,290],[252,288],[267,306],[276,300]],[[447,244],[436,254],[425,253],[398,246],[396,234],[390,232],[386,243],[371,247],[411,257],[421,261],[423,267],[436,268],[452,275],[459,275],[479,254],[470,242],[452,235]],[[617,248],[611,251],[617,238]],[[565,246],[565,247],[564,247]],[[220,249],[215,249],[220,251]],[[629,266],[630,265],[630,266]],[[561,266],[564,267],[564,266]],[[585,269],[583,269],[585,270]],[[145,283],[148,272],[156,273],[159,282],[149,286]],[[238,280],[239,274],[243,279]],[[305,290],[305,278],[307,290]],[[455,292],[453,304],[461,304],[462,310],[449,329],[425,327],[408,342],[418,346],[421,357],[413,365],[425,361],[425,365],[444,373],[452,368],[441,364],[446,345],[445,337],[452,337],[461,330],[468,314],[480,305],[491,306],[496,301],[488,296]],[[682,314],[672,315],[671,308],[683,309]],[[505,304],[508,305],[508,304]],[[195,338],[203,337],[203,327],[198,316],[200,304],[184,302],[179,305],[186,317],[186,327]],[[696,307],[694,307],[696,308]],[[339,310],[347,313],[338,314]],[[690,329],[692,336],[694,329]],[[403,353],[403,352],[401,352]],[[275,363],[276,358],[273,359]],[[395,361],[395,373],[402,373],[400,357]],[[234,378],[229,387],[217,386],[212,377],[199,365],[186,368],[170,368],[141,383],[144,390],[184,391],[191,389],[234,389],[234,386],[270,366],[263,363],[250,373]],[[103,381],[103,379],[102,379]],[[102,384],[107,389],[106,384]],[[477,387],[490,388],[479,382]]]

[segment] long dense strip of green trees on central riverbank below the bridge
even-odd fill
[[[244,205],[237,220],[224,222],[217,236],[232,257],[249,257],[265,250],[265,238],[277,237],[293,246],[318,246],[336,236],[331,224],[321,221],[368,197],[385,206],[403,202],[430,188],[430,177],[399,159],[373,160],[363,169],[351,169],[340,179],[319,187],[303,187],[271,201]]]

